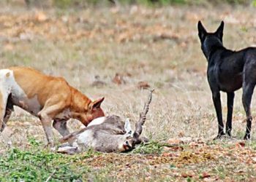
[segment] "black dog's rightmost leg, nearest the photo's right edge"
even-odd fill
[[[250,132],[252,127],[252,115],[251,115],[251,100],[252,93],[255,88],[255,84],[244,84],[243,85],[243,105],[244,111],[246,112],[246,132],[244,140],[251,138]]]

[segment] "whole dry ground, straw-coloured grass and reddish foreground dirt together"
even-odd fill
[[[142,148],[136,154],[95,153],[84,159],[77,156],[79,160],[71,162],[78,167],[76,170],[81,166],[89,169],[79,178],[255,181],[256,124],[252,123],[252,141],[241,141],[246,127],[241,91],[236,94],[233,112],[235,138],[212,142],[217,135],[217,119],[206,80],[207,63],[197,38],[198,20],[203,20],[209,31],[215,31],[220,20],[225,20],[224,44],[230,49],[256,45],[256,15],[250,7],[135,6],[80,10],[1,7],[1,68],[31,66],[45,74],[63,76],[89,98],[105,96],[102,108],[106,114],[129,117],[133,123],[146,99],[146,91],[140,89],[139,82],[155,88],[143,128],[143,135],[158,142],[148,148],[152,152],[141,154]],[[227,111],[225,96],[223,116]],[[253,99],[253,121],[255,105]],[[2,161],[12,149],[43,150],[43,143],[33,144],[45,141],[37,118],[15,108],[7,125],[0,135]],[[69,127],[77,130],[80,123],[72,120]],[[56,140],[60,138],[55,134]],[[180,138],[184,137],[190,138],[189,142],[182,142]],[[178,146],[159,146],[156,154],[153,148],[168,140]],[[6,173],[3,169],[6,168],[0,170],[1,180],[10,180],[3,177]],[[13,177],[22,178],[25,177]],[[61,179],[53,175],[50,180]]]

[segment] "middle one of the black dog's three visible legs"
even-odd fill
[[[231,136],[232,130],[232,114],[233,114],[233,103],[234,103],[234,92],[227,92],[227,122],[226,122],[226,134]]]

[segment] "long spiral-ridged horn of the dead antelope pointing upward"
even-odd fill
[[[148,113],[148,109],[149,109],[149,104],[151,103],[152,100],[152,93],[154,92],[154,90],[149,90],[149,94],[148,94],[148,100],[146,101],[143,111],[140,112],[140,119],[139,121],[135,124],[135,132],[133,134],[134,138],[138,138],[142,132],[142,126],[146,121],[146,114]]]

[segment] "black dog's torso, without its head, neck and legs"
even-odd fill
[[[238,52],[222,50],[222,52],[212,55],[209,63],[211,61],[215,65],[215,76],[221,91],[234,92],[240,89],[243,79],[246,79],[247,76],[252,77],[250,81],[256,82],[255,47]]]

